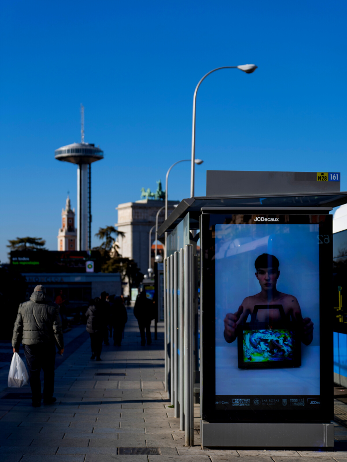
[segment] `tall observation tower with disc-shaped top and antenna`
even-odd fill
[[[91,249],[92,225],[92,166],[104,158],[104,152],[94,144],[84,142],[84,107],[81,104],[81,142],[62,146],[55,157],[77,164],[77,250]]]

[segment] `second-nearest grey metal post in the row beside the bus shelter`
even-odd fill
[[[179,429],[184,430],[184,249],[179,251]]]

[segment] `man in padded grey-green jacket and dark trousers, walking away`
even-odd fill
[[[28,302],[19,305],[14,323],[12,347],[19,352],[22,343],[30,373],[32,406],[41,406],[41,369],[44,371],[44,404],[53,404],[54,367],[56,346],[58,354],[64,352],[64,341],[59,317],[59,308],[46,295],[44,286],[36,286]]]

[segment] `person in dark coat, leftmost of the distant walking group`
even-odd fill
[[[101,361],[101,351],[103,349],[103,341],[105,336],[105,329],[107,329],[107,319],[105,317],[105,310],[99,298],[96,298],[90,304],[86,311],[87,326],[86,330],[90,335],[90,346],[92,348],[92,356],[90,359]]]

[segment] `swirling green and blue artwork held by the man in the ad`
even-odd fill
[[[288,329],[243,331],[243,361],[267,362],[294,359],[294,336]]]

